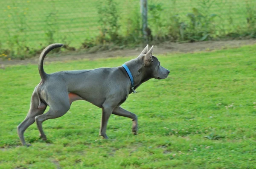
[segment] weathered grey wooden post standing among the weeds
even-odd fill
[[[147,33],[147,28],[148,28],[148,5],[147,5],[147,0],[140,0],[140,12],[142,16],[142,34],[143,34],[143,39],[144,43],[148,43],[148,33]]]

